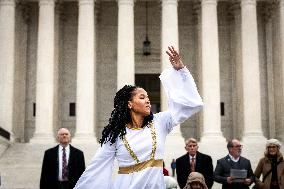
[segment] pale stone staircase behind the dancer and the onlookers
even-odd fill
[[[0,189],[38,189],[44,151],[55,145],[56,143],[15,143],[11,145],[0,157]],[[215,167],[217,159],[227,154],[227,149],[226,146],[213,147],[210,145],[201,145],[200,151],[212,156]],[[74,144],[74,146],[84,151],[86,165],[88,165],[99,144]],[[282,146],[282,153],[283,148]],[[173,153],[174,150],[175,152]],[[174,154],[185,153],[183,146],[176,146],[174,150],[166,150],[165,163],[168,170],[171,170],[170,162],[172,158],[176,158],[173,157]],[[244,143],[243,156],[251,160],[253,170],[260,157],[262,157],[263,150],[264,146],[262,143],[254,145]],[[116,172],[115,168],[114,176]],[[220,188],[221,185],[214,183],[213,189]]]

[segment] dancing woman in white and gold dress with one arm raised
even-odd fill
[[[153,114],[148,94],[141,87],[125,85],[120,89],[114,97],[109,123],[102,132],[102,147],[75,189],[165,189],[166,136],[203,105],[178,52],[169,47],[166,53],[172,68],[164,70],[160,80],[168,96],[168,110]],[[115,158],[119,172],[112,182]]]

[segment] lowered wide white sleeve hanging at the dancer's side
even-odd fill
[[[115,144],[103,144],[93,157],[74,189],[111,189]]]

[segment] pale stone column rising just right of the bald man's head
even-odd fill
[[[75,140],[95,139],[94,0],[79,0]]]

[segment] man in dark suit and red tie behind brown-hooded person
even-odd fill
[[[213,164],[212,158],[198,152],[197,140],[189,138],[185,142],[187,153],[176,159],[177,181],[180,188],[184,188],[187,178],[191,172],[199,172],[204,178],[207,187],[213,185]]]

